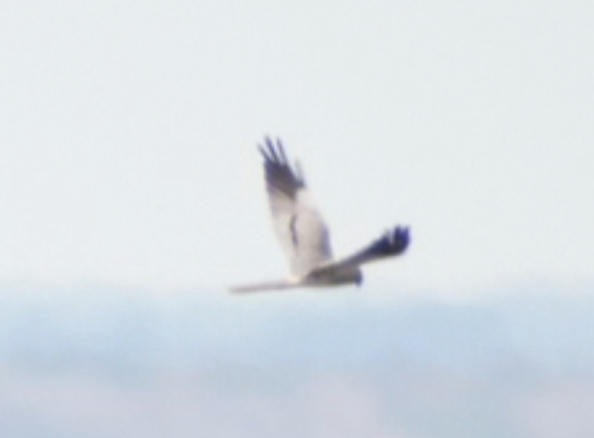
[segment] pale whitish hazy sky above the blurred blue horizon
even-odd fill
[[[412,226],[369,288],[591,278],[592,23],[587,1],[4,2],[0,279],[283,275],[265,134],[336,253]]]

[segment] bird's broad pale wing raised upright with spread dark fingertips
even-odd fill
[[[280,140],[266,138],[260,145],[264,157],[266,189],[274,230],[293,275],[307,274],[332,257],[328,230],[305,186],[299,165],[293,169]]]

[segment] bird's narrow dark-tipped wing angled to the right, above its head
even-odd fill
[[[374,262],[388,257],[393,257],[402,254],[406,251],[410,243],[410,231],[407,227],[394,227],[392,230],[386,231],[379,239],[369,243],[368,246],[334,262],[327,263],[320,266],[315,271],[324,271],[326,269],[333,269],[340,271],[343,269],[352,268],[362,265],[364,263]]]

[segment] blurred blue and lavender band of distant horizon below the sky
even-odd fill
[[[11,437],[587,437],[593,283],[475,300],[2,284]]]

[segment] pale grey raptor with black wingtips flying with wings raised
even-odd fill
[[[290,276],[283,280],[240,285],[232,292],[256,292],[295,287],[361,285],[361,265],[405,252],[410,242],[408,227],[396,226],[363,249],[334,259],[328,229],[312,202],[299,164],[291,166],[282,143],[265,139],[259,145],[274,231],[287,259]]]

